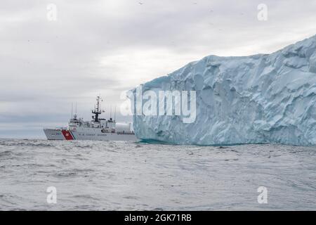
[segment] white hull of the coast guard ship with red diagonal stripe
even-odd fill
[[[100,129],[69,130],[44,129],[48,140],[137,141],[133,133],[103,133]]]

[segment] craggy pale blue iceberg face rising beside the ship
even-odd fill
[[[139,139],[316,144],[316,36],[269,55],[207,56],[143,84],[147,90],[196,91],[197,116],[186,124],[176,115],[135,115]]]

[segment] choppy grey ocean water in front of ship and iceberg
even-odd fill
[[[276,144],[0,139],[0,210],[316,210],[315,162]]]

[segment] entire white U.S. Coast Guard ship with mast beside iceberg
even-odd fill
[[[99,115],[104,113],[100,108],[100,96],[92,113],[91,121],[84,121],[74,114],[68,123],[68,127],[57,127],[44,129],[48,140],[96,140],[96,141],[136,141],[138,140],[132,130],[131,123],[117,123],[110,120],[100,119]]]

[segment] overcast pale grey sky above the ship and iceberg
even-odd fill
[[[204,56],[277,51],[316,34],[315,12],[315,0],[2,0],[0,138],[44,138],[75,102],[90,120],[98,94],[108,117],[121,91]]]

